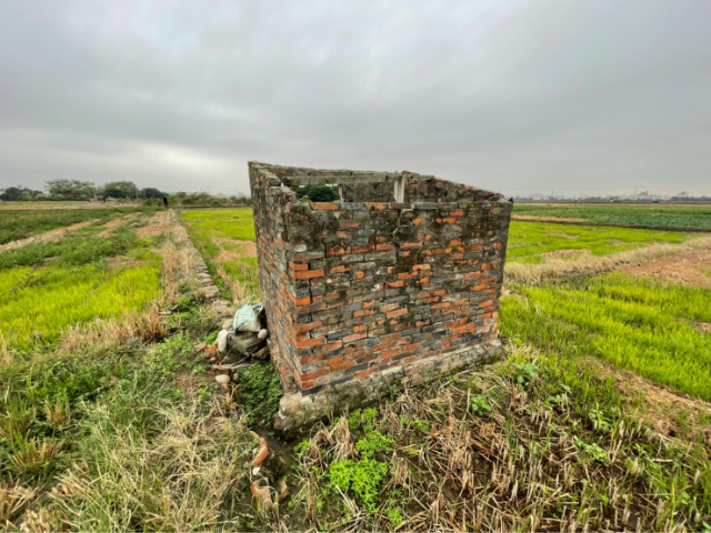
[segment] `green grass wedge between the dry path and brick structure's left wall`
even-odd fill
[[[254,222],[250,208],[191,209],[180,220],[200,251],[222,295],[237,302],[259,300]]]

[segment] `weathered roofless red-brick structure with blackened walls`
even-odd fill
[[[511,203],[410,172],[249,165],[261,298],[290,431],[492,358]],[[291,189],[328,184],[341,201]]]

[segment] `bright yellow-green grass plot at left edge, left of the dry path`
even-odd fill
[[[51,345],[68,326],[139,311],[161,294],[152,241],[127,227],[100,230],[0,253],[0,331],[10,348]]]

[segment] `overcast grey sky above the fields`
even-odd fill
[[[711,194],[711,1],[0,2],[0,188],[247,161]]]

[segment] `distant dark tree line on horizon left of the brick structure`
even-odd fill
[[[9,187],[0,193],[3,201],[87,201],[87,200],[122,200],[137,201],[147,204],[162,204],[166,198],[170,205],[250,205],[251,198],[244,194],[232,197],[213,197],[200,193],[167,193],[153,187],[139,189],[132,181],[112,181],[104,185],[97,185],[90,181],[49,180],[44,182],[43,191],[36,191],[22,185]]]

